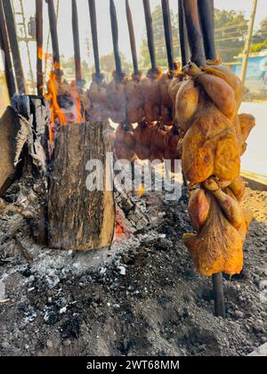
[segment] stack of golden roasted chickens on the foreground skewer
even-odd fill
[[[198,234],[186,234],[183,240],[202,274],[239,273],[252,218],[240,205],[240,156],[255,119],[238,115],[244,87],[230,69],[199,69],[190,63],[184,71],[190,79],[178,92],[176,110],[185,133],[182,167],[190,182],[189,211]]]

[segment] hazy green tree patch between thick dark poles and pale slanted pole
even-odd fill
[[[215,42],[223,62],[231,62],[244,50],[247,20],[244,12],[215,9]]]

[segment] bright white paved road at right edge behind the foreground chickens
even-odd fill
[[[240,113],[250,113],[256,118],[256,127],[242,158],[242,170],[267,175],[267,103],[243,102]]]

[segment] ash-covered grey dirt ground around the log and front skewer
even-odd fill
[[[255,220],[244,272],[224,280],[225,320],[182,244],[186,198],[142,199],[150,225],[100,252],[41,248],[25,218],[0,220],[1,355],[235,356],[267,342],[267,191],[247,190]]]

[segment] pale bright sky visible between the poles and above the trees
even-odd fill
[[[177,12],[178,1],[169,0],[170,6]],[[26,13],[26,18],[35,15],[35,2],[34,0],[22,0],[24,5],[24,11]],[[13,0],[16,9],[19,9],[19,0]],[[57,0],[54,0],[54,4]],[[142,0],[129,0],[133,18],[134,18],[134,28],[135,37],[138,51],[142,44],[142,37],[145,30],[145,21],[142,7]],[[160,0],[150,0],[151,10],[160,4]],[[214,0],[215,7],[218,9],[225,10],[235,10],[245,12],[247,18],[249,17],[252,0]],[[125,18],[125,0],[115,0],[117,7],[117,20],[119,29],[119,49],[125,54],[126,58],[131,60],[131,50],[127,31],[127,23]],[[90,65],[93,64],[93,51],[86,45],[86,39],[91,38],[90,30],[90,19],[89,19],[89,9],[88,0],[77,0],[78,7],[78,17],[79,17],[79,29],[80,29],[80,44],[81,44],[81,54],[82,58],[87,61]],[[99,32],[99,47],[100,54],[108,54],[112,52],[112,38],[110,32],[110,19],[109,19],[109,0],[96,0],[96,11],[98,15],[98,32]],[[17,21],[19,21],[19,16],[17,16]],[[266,0],[258,0],[258,8],[255,20],[255,28],[259,26],[259,23],[263,18],[267,17],[267,6]],[[47,17],[47,5],[44,2],[44,45],[46,45],[46,40],[48,36],[48,17]],[[58,34],[60,51],[66,57],[73,55],[73,39],[71,30],[71,0],[60,0],[60,12],[59,12],[59,23],[58,23]],[[35,69],[36,61],[36,45],[34,43],[30,44],[30,53],[33,69]],[[23,65],[25,70],[28,69],[28,59],[26,53],[26,47],[24,43],[20,45]],[[49,46],[49,52],[51,52],[51,45]]]

